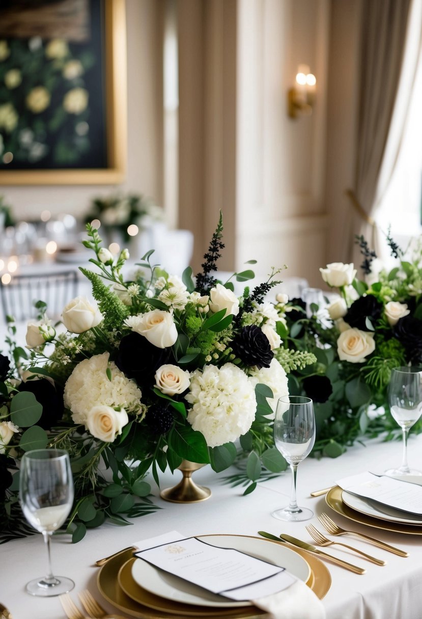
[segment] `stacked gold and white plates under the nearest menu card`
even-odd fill
[[[235,548],[275,565],[306,582],[322,599],[330,588],[331,577],[316,557],[278,542],[246,535],[203,535],[207,543]],[[98,573],[98,589],[110,604],[132,617],[170,619],[183,617],[257,617],[265,614],[251,602],[232,602],[168,574],[161,569],[122,552],[108,561]]]

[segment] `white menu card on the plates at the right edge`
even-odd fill
[[[337,485],[352,495],[364,496],[400,511],[422,516],[422,487],[415,483],[374,475],[368,471],[338,480]]]

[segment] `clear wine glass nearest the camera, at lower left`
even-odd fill
[[[74,496],[69,454],[62,449],[35,449],[22,457],[19,500],[27,521],[43,534],[48,573],[28,582],[27,592],[41,597],[71,591],[75,583],[51,571],[50,538],[66,520]]]

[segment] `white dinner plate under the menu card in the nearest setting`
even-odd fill
[[[240,535],[205,535],[198,539],[220,548],[235,548],[235,550],[286,568],[304,582],[311,574],[311,568],[302,556],[278,544],[269,544],[265,540]],[[137,584],[150,593],[184,604],[215,607],[251,606],[251,602],[232,602],[222,595],[213,594],[183,578],[155,568],[142,559],[134,562],[132,577]]]

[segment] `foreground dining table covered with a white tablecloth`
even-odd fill
[[[422,435],[410,435],[408,456],[411,466],[422,469]],[[306,458],[298,467],[298,503],[311,508],[314,517],[307,522],[282,522],[271,513],[288,504],[291,490],[291,473],[286,470],[272,478],[262,478],[251,493],[244,495],[244,486],[233,487],[230,479],[241,475],[241,465],[213,472],[209,465],[194,472],[196,483],[210,488],[207,500],[198,503],[171,503],[160,498],[160,489],[174,486],[181,479],[181,472],[165,472],[160,477],[160,488],[151,483],[153,504],[157,507],[147,515],[132,519],[129,526],[116,526],[107,522],[96,529],[89,529],[84,539],[73,544],[70,535],[56,534],[51,544],[53,572],[69,576],[75,582],[72,598],[77,602],[78,592],[88,589],[93,597],[109,612],[130,617],[104,599],[98,589],[97,576],[100,568],[95,561],[119,550],[131,547],[139,540],[177,530],[184,537],[197,535],[237,535],[259,537],[264,530],[273,535],[286,533],[313,543],[307,524],[327,534],[317,516],[323,512],[346,530],[364,533],[390,545],[401,548],[408,556],[397,556],[382,548],[364,542],[357,537],[333,537],[376,556],[384,561],[375,565],[340,546],[324,548],[324,551],[349,563],[366,569],[364,574],[347,571],[335,563],[324,560],[328,568],[325,576],[325,595],[322,599],[327,619],[420,619],[422,608],[422,537],[420,534],[385,530],[383,521],[379,527],[368,526],[342,516],[325,500],[326,495],[316,498],[311,491],[329,488],[336,480],[369,470],[376,474],[398,464],[401,445],[398,441],[385,441],[383,436],[355,443],[342,456]],[[400,527],[398,527],[400,528]],[[406,530],[406,527],[403,527]],[[416,529],[422,532],[422,527]],[[228,537],[230,540],[230,537]],[[268,542],[262,539],[262,543]],[[280,540],[280,548],[282,548]],[[277,544],[278,548],[278,544]],[[9,609],[14,619],[62,619],[66,615],[58,597],[33,597],[25,592],[25,584],[46,571],[46,550],[40,534],[15,539],[0,546],[0,602]],[[328,582],[327,582],[328,578]],[[141,616],[141,615],[140,615]],[[180,615],[174,615],[178,617]],[[224,612],[220,617],[224,617]],[[261,615],[262,616],[262,615]]]

